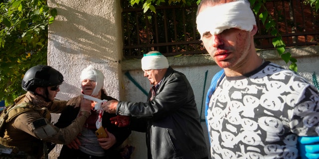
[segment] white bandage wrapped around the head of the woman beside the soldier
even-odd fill
[[[83,69],[81,74],[81,82],[84,79],[94,80],[96,85],[91,94],[91,96],[96,96],[99,94],[99,91],[103,88],[104,85],[104,75],[101,71],[95,69],[93,66],[88,66],[87,68]]]

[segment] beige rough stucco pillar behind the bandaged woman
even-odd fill
[[[65,82],[61,99],[80,93],[79,76],[88,65],[106,75],[105,87],[119,90],[122,57],[119,0],[48,0],[58,16],[49,25],[48,65],[59,70]],[[119,98],[119,91],[109,95]]]

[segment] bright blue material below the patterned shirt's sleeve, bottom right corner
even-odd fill
[[[298,137],[301,159],[319,159],[319,137]]]

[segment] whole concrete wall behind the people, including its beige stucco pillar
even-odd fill
[[[143,77],[141,61],[122,61],[122,25],[120,0],[48,0],[58,11],[49,25],[48,65],[64,75],[58,99],[67,100],[80,94],[80,73],[88,65],[105,75],[104,88],[119,100],[146,101],[150,89]],[[307,79],[318,74],[319,46],[288,50],[298,58],[299,73]],[[275,51],[259,51],[260,56],[279,65],[286,64]],[[186,75],[195,93],[198,112],[204,119],[203,103],[212,76],[220,70],[208,55],[168,57],[170,66]],[[55,118],[58,115],[54,115]],[[207,138],[206,125],[201,122]],[[135,147],[131,159],[147,159],[145,134],[133,132],[124,146]],[[207,145],[209,145],[207,140]],[[57,146],[50,153],[56,159]]]

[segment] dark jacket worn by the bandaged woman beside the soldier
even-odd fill
[[[101,94],[101,99],[106,99],[106,100],[117,100],[113,97],[107,96],[106,94],[103,93]],[[60,118],[58,122],[55,124],[55,126],[59,128],[64,128],[70,125],[70,123],[76,118],[78,115],[78,112],[80,110],[80,107],[74,107],[71,105],[68,105],[64,111],[61,112]],[[109,150],[105,150],[105,154],[110,158],[114,159],[114,156],[118,157],[118,146],[120,146],[131,134],[131,130],[128,128],[119,128],[118,126],[112,124],[110,122],[110,118],[116,116],[115,114],[109,114],[107,112],[103,113],[102,116],[102,126],[104,128],[107,128],[107,130],[112,133],[115,138],[117,143],[114,144]],[[63,145],[60,153],[60,157],[63,156],[63,159],[66,159],[66,156],[72,156],[72,153],[76,153],[77,151],[80,150],[70,150],[66,145]]]

